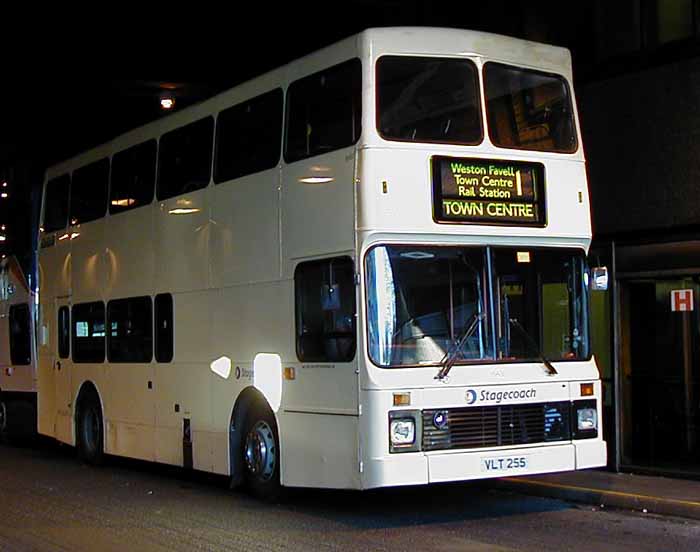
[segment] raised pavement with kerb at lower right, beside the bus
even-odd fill
[[[535,496],[700,520],[700,481],[581,470],[498,480],[502,489]]]

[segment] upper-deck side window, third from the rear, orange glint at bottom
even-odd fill
[[[148,205],[156,184],[156,141],[120,151],[112,158],[110,214]]]

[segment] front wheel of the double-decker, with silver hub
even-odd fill
[[[246,416],[244,427],[244,485],[260,499],[278,501],[282,498],[282,486],[279,433],[275,416],[267,405],[254,405]]]

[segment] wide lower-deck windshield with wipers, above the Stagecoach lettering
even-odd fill
[[[365,270],[380,367],[435,366],[448,352],[458,364],[589,357],[580,250],[378,246]]]

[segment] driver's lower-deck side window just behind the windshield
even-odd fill
[[[297,266],[297,356],[302,362],[348,362],[355,357],[355,279],[352,260]]]

